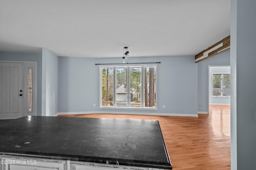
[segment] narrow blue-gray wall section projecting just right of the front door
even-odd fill
[[[58,113],[58,56],[42,49],[42,115]]]

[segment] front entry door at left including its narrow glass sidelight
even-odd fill
[[[37,62],[0,61],[0,119],[37,115]]]

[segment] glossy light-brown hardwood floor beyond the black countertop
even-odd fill
[[[230,118],[228,120],[227,106],[210,106],[209,115],[200,114],[198,117],[117,114],[59,116],[158,120],[173,170],[230,170]]]

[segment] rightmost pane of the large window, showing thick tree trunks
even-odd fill
[[[144,106],[156,107],[156,67],[144,68]]]

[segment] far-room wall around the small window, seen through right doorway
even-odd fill
[[[230,66],[209,68],[209,104],[230,104],[230,97],[212,97],[212,73],[230,73]]]

